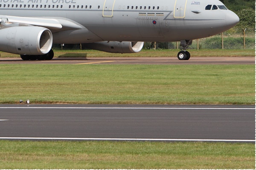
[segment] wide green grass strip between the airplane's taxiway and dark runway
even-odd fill
[[[255,65],[0,65],[0,103],[255,104]]]

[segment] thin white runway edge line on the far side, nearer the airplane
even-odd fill
[[[0,109],[192,109],[192,110],[255,110],[255,108],[154,108],[154,107],[0,107]]]

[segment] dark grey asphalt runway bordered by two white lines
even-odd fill
[[[0,139],[255,142],[255,106],[0,105]]]

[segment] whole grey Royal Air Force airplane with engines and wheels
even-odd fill
[[[0,51],[23,60],[54,57],[52,44],[85,44],[136,53],[144,42],[179,42],[220,34],[239,17],[219,0],[0,0]]]

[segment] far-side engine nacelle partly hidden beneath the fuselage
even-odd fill
[[[144,42],[102,41],[85,45],[88,48],[109,53],[137,53],[143,48]]]

